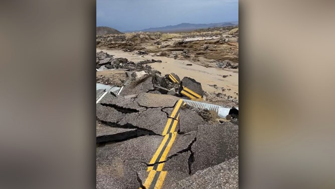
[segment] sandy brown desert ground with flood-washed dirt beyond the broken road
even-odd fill
[[[171,34],[97,36],[96,51],[135,63],[161,60],[148,65],[162,75],[173,72],[181,79],[188,76],[201,82],[206,102],[238,106],[238,48],[238,29],[225,27]],[[145,53],[139,54],[138,50]],[[97,82],[108,84],[109,78],[122,85],[125,74],[115,71],[97,72]]]

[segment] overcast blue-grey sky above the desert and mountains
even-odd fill
[[[97,0],[96,24],[119,31],[238,21],[238,0]]]

